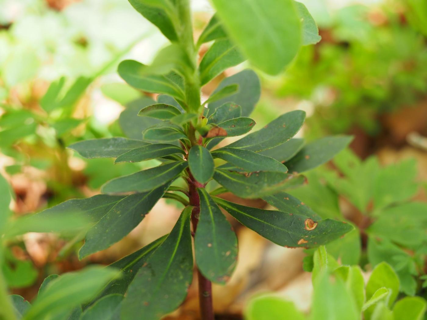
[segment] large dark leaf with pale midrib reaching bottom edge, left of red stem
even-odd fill
[[[166,240],[150,256],[132,284],[122,306],[122,319],[160,319],[187,296],[193,279],[190,216],[186,207]]]

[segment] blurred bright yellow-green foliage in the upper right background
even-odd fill
[[[307,119],[309,137],[355,127],[374,136],[383,129],[381,115],[425,98],[425,35],[405,16],[417,15],[412,20],[422,26],[425,2],[408,3],[413,3],[413,10],[405,11],[403,1],[339,9],[322,30],[323,41],[301,50],[276,93],[313,103],[313,116]]]

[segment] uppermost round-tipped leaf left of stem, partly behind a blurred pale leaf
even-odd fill
[[[132,87],[152,93],[164,93],[184,100],[182,89],[167,76],[146,76],[143,64],[134,60],[125,60],[119,64],[119,75]]]

